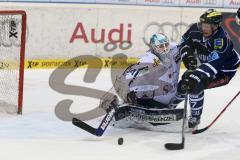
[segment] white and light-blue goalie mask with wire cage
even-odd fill
[[[150,48],[163,64],[169,64],[169,39],[162,33],[152,35],[150,39]]]

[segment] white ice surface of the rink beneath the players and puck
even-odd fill
[[[72,99],[71,111],[93,109],[98,100],[63,95],[49,87],[52,70],[26,70],[23,115],[0,118],[1,160],[240,160],[240,97],[238,97],[206,132],[186,134],[185,149],[167,151],[164,143],[180,142],[180,133],[108,128],[103,137],[94,137],[58,119],[56,104]],[[83,81],[84,69],[76,70],[66,83],[101,90],[111,88],[110,71],[101,71],[94,83]],[[229,85],[205,92],[205,106],[199,128],[208,125],[240,89],[240,73]],[[183,107],[183,104],[180,105]],[[98,120],[92,120],[97,126]],[[117,144],[118,137],[124,144]]]

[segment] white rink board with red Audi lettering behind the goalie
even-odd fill
[[[26,59],[65,59],[80,55],[104,58],[117,54],[140,57],[149,49],[149,39],[154,33],[165,33],[171,41],[180,42],[189,25],[198,22],[206,10],[76,4],[0,7],[26,11]],[[232,31],[232,23],[228,32]],[[238,38],[236,26],[231,33]]]

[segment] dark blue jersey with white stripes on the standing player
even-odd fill
[[[239,54],[221,26],[210,37],[204,38],[200,25],[193,24],[182,37],[180,51],[184,47],[196,53],[201,62],[197,70],[208,77],[222,72],[232,74],[237,71],[240,63]],[[188,53],[181,54],[185,56]]]

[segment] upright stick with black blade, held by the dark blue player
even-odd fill
[[[185,121],[187,119],[187,103],[188,103],[188,94],[185,96],[184,110],[183,110],[183,122],[182,122],[182,142],[181,143],[166,143],[165,148],[168,150],[180,150],[184,149],[185,144]]]

